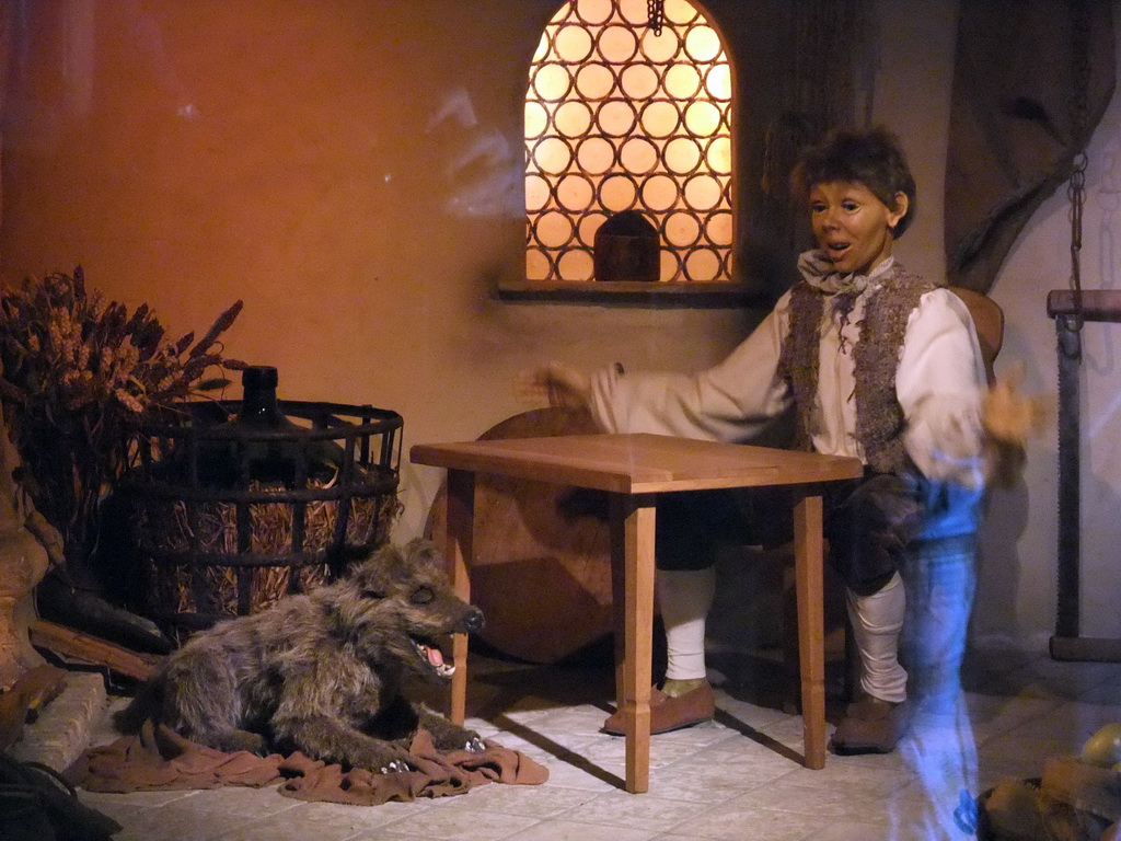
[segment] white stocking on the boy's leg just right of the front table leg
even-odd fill
[[[704,677],[705,617],[716,593],[716,570],[658,570],[656,581],[666,625],[666,677]]]

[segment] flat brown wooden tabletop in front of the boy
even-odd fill
[[[845,456],[643,433],[416,444],[409,459],[617,493],[808,484],[863,472]]]

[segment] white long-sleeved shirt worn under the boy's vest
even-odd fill
[[[895,264],[888,258],[869,275],[842,327],[830,306],[823,313],[814,449],[867,461],[856,441],[852,351],[868,296]],[[647,432],[749,443],[790,405],[777,377],[789,330],[790,293],[721,363],[696,375],[628,372],[613,368],[592,376],[591,408],[606,432]],[[842,342],[842,335],[844,341]],[[985,371],[969,309],[954,293],[926,293],[910,314],[896,371],[896,397],[907,422],[905,445],[930,479],[980,483],[981,397]]]

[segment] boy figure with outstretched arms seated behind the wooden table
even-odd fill
[[[802,279],[728,359],[695,376],[615,366],[589,378],[553,363],[527,385],[553,405],[586,406],[611,433],[750,443],[793,409],[794,446],[864,463],[863,479],[830,488],[825,500],[828,555],[847,589],[862,694],[831,748],[890,752],[908,726],[900,567],[908,557],[964,564],[972,580],[985,371],[965,305],[891,255],[916,204],[893,135],[836,132],[803,154],[793,185],[817,249],[802,255]],[[761,508],[762,517],[750,516]],[[651,732],[712,718],[704,663],[712,548],[729,534],[758,535],[778,517],[758,496],[749,505],[728,492],[670,495],[659,503],[657,586],[668,664],[651,697]],[[951,682],[971,599],[963,588],[953,639],[934,655]],[[619,714],[604,728],[622,732]]]

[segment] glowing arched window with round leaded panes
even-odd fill
[[[638,211],[663,281],[730,280],[732,80],[689,0],[568,0],[545,27],[526,92],[526,277],[593,279],[596,230]]]

